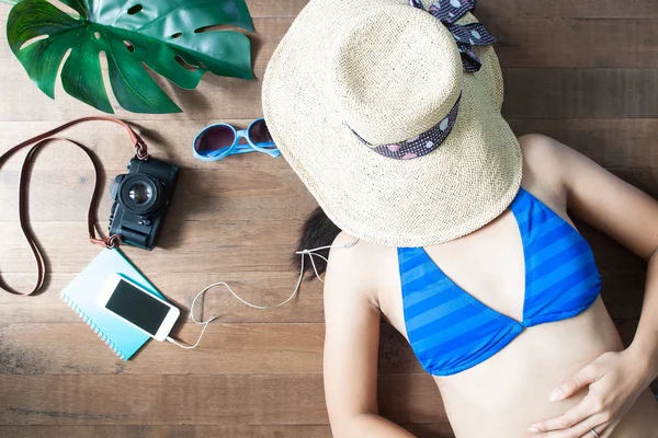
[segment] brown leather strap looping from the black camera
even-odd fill
[[[4,152],[2,155],[0,155],[0,168],[2,168],[2,164],[15,152],[18,152],[19,150],[21,150],[23,148],[32,146],[32,148],[30,149],[30,151],[27,152],[27,154],[25,157],[25,160],[23,161],[23,165],[21,168],[21,176],[19,180],[19,222],[21,224],[21,230],[23,231],[23,235],[25,237],[25,240],[30,244],[32,253],[34,254],[34,260],[36,261],[37,280],[36,280],[36,285],[32,289],[32,291],[30,291],[27,293],[22,293],[15,289],[12,289],[11,287],[9,287],[7,285],[7,283],[0,277],[0,289],[4,290],[7,292],[10,292],[13,295],[19,295],[19,296],[30,296],[30,295],[38,291],[42,288],[42,286],[44,285],[46,266],[45,266],[44,257],[42,255],[42,251],[41,251],[38,243],[36,242],[36,239],[34,237],[34,232],[32,231],[32,229],[30,228],[30,226],[27,223],[27,218],[29,218],[27,217],[27,194],[25,193],[26,192],[25,188],[27,186],[27,181],[29,181],[29,176],[27,176],[29,170],[31,169],[31,164],[34,161],[35,153],[46,145],[49,145],[55,141],[66,141],[66,142],[77,146],[82,151],[84,151],[84,153],[87,153],[87,155],[91,160],[91,163],[93,164],[94,180],[95,180],[93,194],[91,195],[91,201],[89,203],[89,214],[87,216],[89,241],[91,243],[101,245],[103,247],[116,247],[121,243],[121,239],[116,234],[111,235],[109,238],[97,238],[97,234],[95,234],[95,228],[94,228],[95,211],[97,211],[98,195],[99,195],[101,182],[99,180],[100,164],[99,164],[98,160],[95,159],[94,154],[88,148],[86,148],[83,145],[81,145],[75,140],[70,140],[68,138],[61,138],[61,137],[52,137],[52,136],[59,134],[63,130],[66,130],[75,125],[79,125],[79,124],[82,124],[86,122],[112,122],[112,123],[123,126],[126,129],[128,136],[131,137],[131,141],[133,142],[133,145],[136,149],[135,155],[139,160],[146,160],[148,158],[147,146],[146,146],[146,142],[144,142],[144,140],[141,139],[141,137],[139,137],[139,135],[137,132],[135,132],[128,124],[126,124],[123,120],[120,120],[117,118],[112,118],[112,117],[78,118],[78,119],[69,122],[65,125],[61,125],[55,129],[52,129],[47,132],[44,132],[36,137],[33,137],[29,140],[25,140],[22,143],[14,146],[13,148],[11,148],[7,152]]]

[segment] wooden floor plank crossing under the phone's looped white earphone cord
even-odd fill
[[[245,299],[263,304],[283,301],[295,285],[294,273],[147,273],[154,284],[173,302],[190,309],[198,290],[217,280],[226,280]],[[31,298],[0,293],[0,321],[15,323],[78,323],[80,320],[59,298],[59,291],[75,277],[75,273],[56,272],[45,292]],[[3,275],[4,276],[4,275]],[[640,314],[644,297],[644,269],[615,269],[601,272],[602,296],[612,318],[636,319]],[[10,285],[26,290],[33,286],[35,274],[4,276]],[[202,306],[200,303],[198,306]],[[196,310],[202,315],[201,309]],[[258,311],[240,303],[226,290],[218,288],[206,293],[203,301],[204,318],[215,313],[218,323],[321,323],[322,291],[319,281],[304,283],[299,297],[274,311]]]

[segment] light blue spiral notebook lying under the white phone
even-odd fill
[[[123,360],[128,360],[150,337],[97,304],[107,278],[120,274],[152,295],[164,298],[118,250],[103,250],[61,291],[61,298]]]

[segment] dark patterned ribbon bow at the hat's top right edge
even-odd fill
[[[462,66],[467,73],[479,71],[483,66],[473,46],[488,46],[496,43],[496,38],[487,32],[483,23],[455,24],[466,12],[475,9],[475,2],[476,0],[438,0],[428,10],[445,24],[455,38],[462,55]],[[420,0],[409,0],[409,4],[426,10]]]

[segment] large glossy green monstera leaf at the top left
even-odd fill
[[[113,113],[99,55],[107,58],[116,100],[135,113],[181,110],[151,79],[154,70],[183,89],[194,89],[206,71],[253,79],[249,38],[231,25],[253,31],[245,0],[61,0],[71,16],[46,0],[22,0],[7,23],[7,38],[30,78],[55,97],[57,72],[67,93]]]

